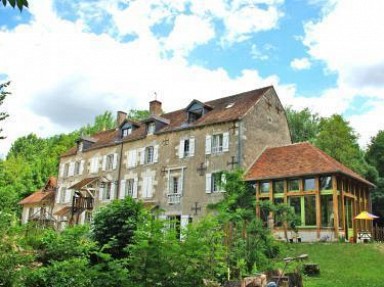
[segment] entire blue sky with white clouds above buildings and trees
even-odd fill
[[[364,146],[384,129],[384,2],[30,0],[0,7],[1,123],[12,142],[105,110],[163,109],[274,85],[285,106],[340,113]]]

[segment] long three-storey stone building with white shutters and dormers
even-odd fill
[[[141,122],[118,112],[118,127],[90,137],[60,159],[54,215],[84,223],[113,199],[137,198],[185,225],[221,197],[223,171],[247,169],[266,147],[291,143],[273,87],[162,113],[150,102]]]

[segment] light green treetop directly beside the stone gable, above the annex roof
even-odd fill
[[[312,114],[308,108],[295,111],[292,107],[287,107],[285,112],[292,142],[314,142],[319,131],[320,117]]]

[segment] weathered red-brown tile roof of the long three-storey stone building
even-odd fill
[[[172,132],[181,129],[189,129],[194,127],[202,127],[210,124],[217,124],[223,122],[234,121],[241,119],[245,114],[258,102],[258,100],[269,90],[273,90],[272,86],[265,88],[220,98],[217,100],[209,101],[204,105],[212,108],[208,113],[202,116],[195,122],[188,123],[186,109],[177,110],[170,113],[161,115],[161,118],[169,120],[169,124],[165,125],[160,131],[156,133]],[[196,100],[194,100],[196,101]],[[146,136],[145,120],[141,123],[137,123],[139,127],[123,139],[124,142],[134,141],[142,139]],[[94,144],[87,150],[93,150],[104,146],[115,145],[121,142],[119,138],[119,131],[117,129],[111,129],[92,135],[92,138],[96,140]],[[77,147],[74,146],[61,156],[75,155]]]

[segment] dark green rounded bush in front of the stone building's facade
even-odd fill
[[[93,237],[105,252],[122,258],[126,255],[124,248],[132,243],[142,214],[142,204],[131,197],[115,200],[96,213]]]

